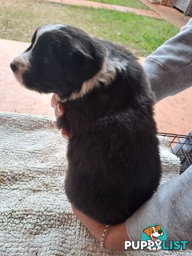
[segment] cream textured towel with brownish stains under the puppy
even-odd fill
[[[179,174],[179,160],[160,137],[162,182]],[[99,251],[73,215],[63,187],[67,142],[53,119],[0,113],[0,255],[151,255]],[[159,252],[154,255],[190,255]]]

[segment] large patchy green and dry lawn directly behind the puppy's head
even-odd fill
[[[40,0],[1,0],[0,38],[30,42],[38,26],[64,23],[147,56],[178,29],[165,20],[134,13],[92,9]]]

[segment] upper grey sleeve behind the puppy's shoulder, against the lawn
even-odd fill
[[[143,63],[156,102],[192,85],[192,19]]]

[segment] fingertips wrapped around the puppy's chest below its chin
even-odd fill
[[[51,97],[51,106],[54,108],[55,117],[58,119],[59,117],[65,114],[65,109],[63,108],[62,104],[59,103],[59,97],[57,94],[53,94]],[[66,129],[61,129],[61,134],[65,139],[69,139],[69,132]]]

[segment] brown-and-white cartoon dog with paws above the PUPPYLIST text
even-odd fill
[[[163,235],[163,231],[161,230],[161,227],[158,226],[158,225],[152,226],[152,227],[148,227],[148,228],[144,229],[143,232],[147,236],[149,236],[151,238],[151,241],[153,241],[153,242],[161,241],[160,239],[158,239],[158,237]],[[151,248],[151,246],[148,246],[147,249],[149,251],[151,251],[151,250],[159,251],[160,249],[162,249],[162,247],[161,246],[157,246],[157,248],[156,247]]]

